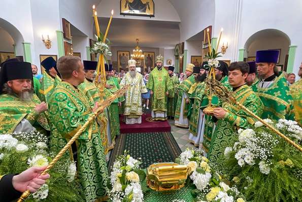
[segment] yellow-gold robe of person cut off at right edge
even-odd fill
[[[293,99],[295,120],[302,127],[302,78],[289,86],[289,90]]]

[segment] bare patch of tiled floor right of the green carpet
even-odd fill
[[[179,128],[174,125],[174,120],[168,120],[171,125],[171,133],[176,139],[181,151],[185,151],[187,148],[194,148],[195,146],[188,141],[189,129]]]

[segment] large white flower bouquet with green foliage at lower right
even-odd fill
[[[302,128],[297,122],[264,120],[301,145]],[[233,147],[224,151],[228,178],[237,184],[248,200],[302,200],[302,155],[272,130],[255,122],[240,129]]]

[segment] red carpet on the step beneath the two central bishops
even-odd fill
[[[171,126],[167,121],[148,122],[151,114],[143,114],[142,124],[128,124],[122,122],[123,117],[120,117],[121,133],[146,133],[146,132],[171,132]]]

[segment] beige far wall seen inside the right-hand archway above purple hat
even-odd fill
[[[256,56],[257,50],[281,49],[280,65],[284,65],[285,55],[288,54],[289,41],[284,37],[265,37],[254,40],[248,47],[248,56]]]

